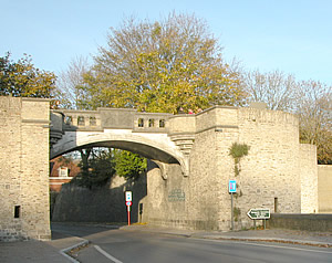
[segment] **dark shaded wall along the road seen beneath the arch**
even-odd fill
[[[114,177],[105,187],[82,188],[65,183],[56,197],[52,221],[126,222],[125,191],[133,192],[132,222],[142,221],[138,203],[146,197],[146,175],[125,181]]]

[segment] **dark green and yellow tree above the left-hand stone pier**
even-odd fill
[[[14,97],[51,97],[55,75],[41,71],[24,55],[18,62],[10,60],[10,53],[0,57],[0,95]]]

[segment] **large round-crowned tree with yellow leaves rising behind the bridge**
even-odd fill
[[[176,113],[214,104],[238,105],[240,75],[224,62],[207,24],[194,15],[160,22],[126,20],[111,29],[85,75],[91,107]]]

